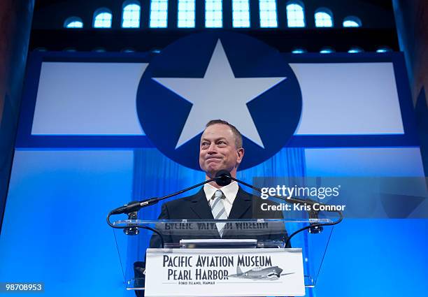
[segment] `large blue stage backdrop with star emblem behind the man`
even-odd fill
[[[191,107],[204,110],[206,103],[186,93],[192,87],[179,89],[176,78],[202,84],[210,73],[229,71],[229,80],[244,83],[262,71],[266,80],[251,89],[254,100],[243,98],[248,113],[237,124],[248,147],[248,162],[238,172],[246,182],[261,176],[424,176],[400,54],[292,56],[243,41],[266,52],[256,59],[250,52],[240,57],[230,36],[203,38],[201,53],[186,54],[191,38],[158,57],[31,57],[0,236],[1,281],[45,282],[44,296],[52,297],[132,296],[124,290],[107,213],[204,180],[197,170],[204,126],[194,126],[199,119]],[[189,64],[184,74],[184,64],[166,71],[178,59],[174,52],[184,55],[180,61],[191,57],[201,64]],[[222,83],[230,87],[229,80]],[[229,111],[227,102],[221,104],[208,110]],[[234,123],[233,116],[215,111],[201,121]],[[139,215],[155,219],[159,210],[155,205]],[[426,296],[427,234],[427,219],[345,219],[334,228],[317,286],[307,296]]]

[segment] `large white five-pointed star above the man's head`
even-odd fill
[[[211,119],[224,119],[264,148],[246,104],[285,79],[235,78],[220,39],[204,78],[152,78],[192,103],[176,148],[204,131],[205,124]]]

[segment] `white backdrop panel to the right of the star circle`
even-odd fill
[[[392,63],[290,66],[303,100],[295,135],[404,133]]]

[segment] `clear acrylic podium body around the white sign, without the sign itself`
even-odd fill
[[[180,240],[220,239],[216,223],[224,222],[224,239],[257,239],[255,245],[248,248],[285,248],[285,234],[314,223],[331,223],[330,219],[234,219],[234,220],[142,220],[124,219],[113,222],[117,252],[120,257],[124,284],[127,290],[144,289],[145,251],[148,247],[169,249],[192,248]],[[154,233],[148,229],[155,229]],[[300,247],[304,259],[305,287],[315,287],[320,275],[322,262],[327,256],[327,247],[334,226],[324,226],[320,233],[301,231],[291,239],[292,247]],[[234,248],[220,245],[215,248]],[[242,248],[243,246],[239,246]],[[211,246],[213,248],[213,246]]]

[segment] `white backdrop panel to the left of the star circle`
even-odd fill
[[[136,93],[147,63],[43,62],[33,135],[144,135]]]

